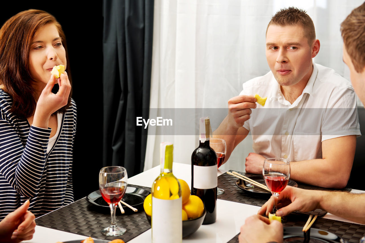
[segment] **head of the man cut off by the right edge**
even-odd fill
[[[343,62],[350,69],[352,86],[365,104],[365,2],[341,23]]]

